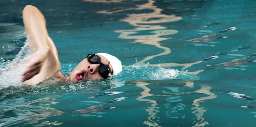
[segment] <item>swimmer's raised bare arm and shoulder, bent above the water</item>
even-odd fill
[[[43,14],[34,6],[23,9],[23,22],[32,57],[23,73],[25,84],[37,84],[49,77],[61,74],[60,62],[54,42],[49,37]],[[62,74],[61,74],[62,75]]]

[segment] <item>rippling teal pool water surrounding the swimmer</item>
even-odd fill
[[[113,81],[22,85],[22,9],[42,11],[68,74],[117,56]],[[255,5],[248,0],[1,0],[0,127],[252,127]]]

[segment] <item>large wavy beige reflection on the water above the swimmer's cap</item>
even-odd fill
[[[134,28],[115,31],[117,33],[120,33],[119,38],[132,39],[134,40],[134,43],[153,45],[157,48],[161,48],[164,50],[163,53],[151,55],[144,58],[141,61],[138,61],[140,65],[145,65],[146,61],[148,61],[149,59],[153,59],[154,57],[167,55],[171,53],[171,49],[166,46],[162,46],[160,42],[167,39],[171,39],[171,37],[166,36],[173,35],[178,31],[168,29],[167,27],[161,26],[159,24],[182,20],[182,18],[179,16],[162,14],[162,9],[157,8],[157,6],[153,5],[154,2],[155,1],[153,0],[148,0],[146,4],[137,5],[136,8],[116,8],[98,12],[105,14],[115,14],[128,10],[152,10],[151,13],[127,14],[127,17],[120,19],[120,21],[128,22],[130,25],[134,26]],[[145,33],[146,31],[150,31],[149,34],[143,35],[143,33]]]

